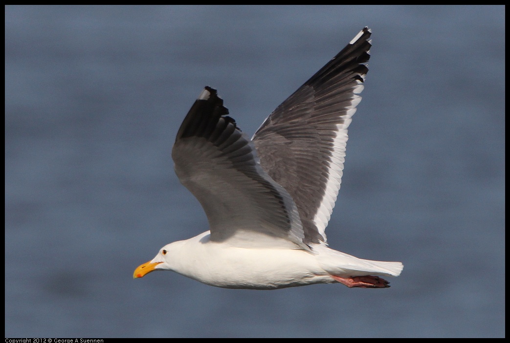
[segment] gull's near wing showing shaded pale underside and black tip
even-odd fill
[[[260,167],[253,144],[227,114],[216,90],[206,87],[172,149],[175,173],[205,210],[211,240],[239,245],[290,241],[308,249],[291,196]]]

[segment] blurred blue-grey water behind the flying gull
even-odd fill
[[[6,6],[6,337],[505,335],[502,6]],[[389,289],[133,280],[207,230],[170,157],[203,86],[251,136],[365,25],[335,249]]]

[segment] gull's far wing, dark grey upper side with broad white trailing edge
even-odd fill
[[[371,32],[364,28],[279,105],[253,136],[262,168],[294,199],[304,243],[324,233],[342,177],[347,127],[368,71]]]

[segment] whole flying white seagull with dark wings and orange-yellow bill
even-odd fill
[[[175,173],[209,230],[165,245],[133,277],[169,270],[202,283],[278,289],[315,283],[386,288],[401,262],[330,249],[325,228],[344,167],[347,127],[368,71],[364,28],[262,123],[251,140],[216,89],[202,90],[172,149]]]

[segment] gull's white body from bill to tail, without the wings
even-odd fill
[[[320,244],[311,251],[295,246],[269,249],[225,246],[212,242],[210,231],[167,244],[145,266],[173,271],[211,286],[247,289],[337,283],[342,282],[338,278],[360,276],[398,276],[403,268],[398,262],[365,260]]]

